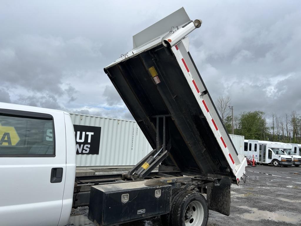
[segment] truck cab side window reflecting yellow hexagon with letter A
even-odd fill
[[[54,157],[54,147],[51,115],[0,109],[0,157]]]

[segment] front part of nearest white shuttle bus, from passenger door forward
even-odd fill
[[[291,166],[292,157],[286,155],[280,143],[259,141],[258,162],[274,166]]]

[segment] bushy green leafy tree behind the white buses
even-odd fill
[[[245,136],[247,140],[267,140],[269,128],[264,115],[263,111],[241,113],[235,134]]]

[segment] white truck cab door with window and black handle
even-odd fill
[[[23,109],[0,109],[0,225],[57,225],[66,173],[64,113]]]

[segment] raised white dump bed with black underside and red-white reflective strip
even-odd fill
[[[171,148],[162,165],[238,183],[247,162],[237,155],[190,55],[186,36],[196,27],[182,8],[135,35],[134,49],[104,71],[153,148],[154,116],[166,115]]]

